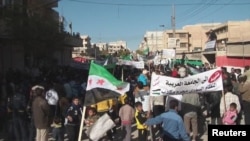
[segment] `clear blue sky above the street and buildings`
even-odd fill
[[[135,51],[147,31],[172,29],[173,5],[176,29],[250,19],[249,0],[60,0],[56,10],[66,31],[72,23],[72,31],[89,35],[91,43],[123,40]]]

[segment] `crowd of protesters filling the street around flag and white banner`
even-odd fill
[[[205,64],[196,69],[204,72],[211,68]],[[190,69],[186,65],[149,66],[144,70],[121,66],[113,72],[118,79],[123,76],[124,81],[130,83],[130,91],[125,98],[117,97],[88,107],[84,122],[87,127],[108,113],[126,131],[124,141],[131,140],[134,122],[139,139],[147,138],[148,127],[157,124],[151,134],[153,138],[195,141],[204,133],[199,130],[206,122],[201,121],[203,118],[211,118],[210,124],[235,125],[242,124],[244,117],[243,124],[250,124],[250,112],[245,110],[250,108],[249,66],[242,74],[239,69],[227,72],[222,67],[224,91],[183,94],[181,101],[167,101],[166,96],[152,97],[150,111],[143,111],[142,102],[149,95],[151,74],[182,78],[192,75]],[[87,77],[88,71],[70,67],[8,70],[1,77],[0,99],[0,130],[5,131],[5,139],[47,141],[51,132],[54,140],[64,140],[66,133],[69,141],[76,141]],[[177,126],[182,128],[176,130]],[[114,140],[117,127],[106,133],[107,140]]]

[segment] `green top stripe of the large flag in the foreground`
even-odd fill
[[[97,75],[107,79],[111,84],[115,86],[121,86],[124,82],[117,80],[108,70],[104,67],[91,62],[89,75]]]

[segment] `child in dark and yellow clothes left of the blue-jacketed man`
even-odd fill
[[[146,113],[142,109],[142,103],[136,102],[135,103],[135,120],[138,130],[138,140],[139,141],[146,141],[147,140],[147,126],[144,125],[144,122],[147,120]]]

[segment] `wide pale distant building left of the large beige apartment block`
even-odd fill
[[[120,50],[125,50],[127,48],[127,43],[125,41],[115,41],[108,43],[108,53],[114,54]]]

